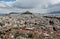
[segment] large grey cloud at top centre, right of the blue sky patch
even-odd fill
[[[39,6],[40,8],[47,3],[48,1],[44,0],[17,0],[14,3],[13,7],[29,9],[29,8],[36,8]]]

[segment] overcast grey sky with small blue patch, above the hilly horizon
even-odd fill
[[[60,0],[0,0],[0,13],[49,13],[60,10]]]

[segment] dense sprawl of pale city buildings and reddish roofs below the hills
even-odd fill
[[[0,39],[60,39],[60,20],[34,14],[0,16]]]

